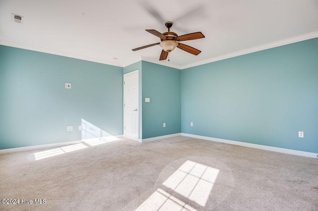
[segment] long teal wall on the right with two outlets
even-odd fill
[[[182,133],[318,153],[318,38],[184,69],[181,90]]]

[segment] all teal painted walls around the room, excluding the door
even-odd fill
[[[318,38],[184,70],[0,46],[0,149],[123,134],[123,74],[138,69],[140,139],[182,132],[318,153],[317,58]]]

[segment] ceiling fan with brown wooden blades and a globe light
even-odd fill
[[[166,59],[168,56],[168,53],[172,52],[175,49],[175,47],[182,49],[183,51],[186,51],[188,53],[192,53],[194,55],[198,55],[199,53],[201,53],[201,51],[195,48],[192,48],[190,46],[177,42],[177,41],[187,41],[187,40],[196,40],[196,39],[205,38],[201,32],[195,32],[195,33],[178,36],[176,33],[170,32],[170,28],[172,26],[171,21],[165,22],[164,25],[165,27],[168,28],[168,31],[162,34],[154,29],[146,29],[147,32],[159,37],[161,40],[160,43],[154,43],[147,46],[139,47],[139,48],[133,49],[133,51],[138,51],[148,47],[160,45],[162,48],[162,51],[161,51],[159,60]]]

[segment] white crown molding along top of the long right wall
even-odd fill
[[[229,53],[229,54],[226,54],[226,55],[221,55],[221,56],[214,57],[214,58],[209,58],[209,59],[206,59],[206,60],[203,60],[203,61],[198,61],[198,62],[194,62],[194,63],[191,63],[191,64],[183,65],[183,66],[180,66],[179,69],[186,69],[186,68],[189,68],[189,67],[195,67],[195,66],[199,66],[199,65],[202,65],[202,64],[211,63],[211,62],[214,62],[214,61],[220,61],[220,60],[223,60],[223,59],[232,58],[232,57],[236,57],[236,56],[239,56],[239,55],[259,52],[259,51],[263,51],[263,50],[266,50],[266,49],[271,49],[271,48],[275,48],[275,47],[279,47],[279,46],[284,46],[284,45],[288,45],[288,44],[292,44],[292,43],[297,43],[297,42],[300,42],[300,41],[309,40],[309,39],[313,39],[313,38],[317,38],[317,37],[318,37],[318,32],[312,32],[312,33],[308,33],[308,34],[305,34],[305,35],[301,35],[301,36],[297,36],[297,37],[281,40],[281,41],[278,41],[278,42],[265,44],[265,45],[257,46],[257,47],[250,48],[250,49],[245,49],[243,51],[239,51],[239,52],[235,52],[235,53]]]

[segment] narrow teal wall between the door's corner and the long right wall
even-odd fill
[[[143,139],[180,133],[181,71],[147,61],[142,67]]]

